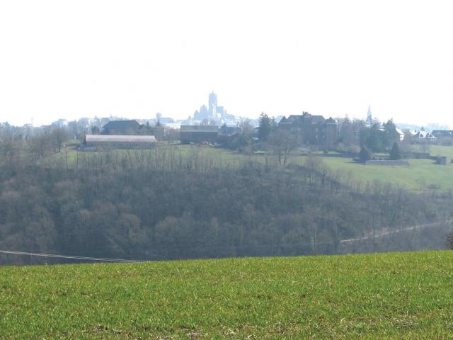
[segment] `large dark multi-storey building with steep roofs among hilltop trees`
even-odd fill
[[[338,138],[338,124],[335,120],[306,112],[302,115],[289,115],[288,118],[284,116],[278,123],[278,127],[300,133],[307,145],[330,147]]]

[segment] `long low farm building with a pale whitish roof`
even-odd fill
[[[154,136],[86,135],[84,147],[87,149],[150,149],[155,144]]]

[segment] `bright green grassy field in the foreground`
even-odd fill
[[[0,339],[445,339],[453,252],[0,268]]]

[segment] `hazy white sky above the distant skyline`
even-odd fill
[[[0,1],[0,121],[309,111],[453,125],[453,1]]]

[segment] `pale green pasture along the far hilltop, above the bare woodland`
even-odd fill
[[[447,156],[447,165],[440,166],[430,159],[408,159],[410,166],[377,166],[363,165],[353,162],[350,158],[323,157],[321,152],[314,153],[319,156],[321,163],[328,166],[333,174],[339,174],[339,178],[352,183],[367,183],[381,181],[402,186],[411,191],[449,191],[453,189],[453,147],[432,145],[432,155]],[[62,164],[74,166],[76,162],[83,162],[85,157],[92,157],[104,152],[76,152],[73,149],[66,149],[64,152],[52,155],[52,160]],[[304,164],[306,156],[299,155],[300,152],[292,152],[288,162]],[[153,162],[160,162],[165,167],[169,159],[178,159],[183,162],[198,162],[205,166],[240,166],[246,162],[260,164],[277,164],[276,157],[265,152],[258,152],[252,155],[239,154],[221,148],[200,147],[191,145],[159,145],[151,150],[115,150],[108,152],[111,158],[139,159],[144,154],[154,157]],[[46,159],[45,162],[48,162]]]

